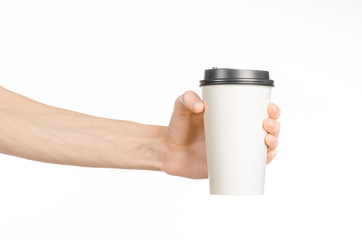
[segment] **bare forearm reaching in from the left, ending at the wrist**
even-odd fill
[[[0,152],[91,167],[158,170],[165,127],[51,107],[0,87]]]

